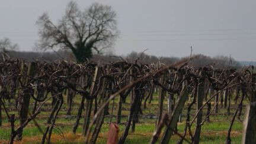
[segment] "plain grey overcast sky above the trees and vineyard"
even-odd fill
[[[20,50],[33,50],[35,25],[48,12],[53,21],[64,13],[68,0],[0,0],[0,39],[9,37]],[[77,1],[86,8],[94,1]],[[256,61],[255,0],[101,0],[117,12],[120,39],[114,51],[156,56],[224,55]]]

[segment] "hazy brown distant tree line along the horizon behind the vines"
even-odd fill
[[[46,61],[46,62],[53,62],[56,60],[66,60],[66,61],[73,61],[75,62],[75,56],[73,56],[72,52],[16,52],[16,51],[9,51],[9,57],[25,59],[28,61]],[[239,67],[241,64],[237,62],[232,57],[228,56],[216,56],[210,57],[205,55],[195,55],[195,59],[191,60],[190,66],[206,66],[211,65],[215,68],[223,68],[228,66],[235,66]],[[177,60],[187,59],[187,57],[157,57],[153,55],[147,55],[145,53],[137,53],[132,52],[126,56],[116,56],[116,55],[94,55],[90,59],[92,62],[101,62],[101,63],[111,63],[117,62],[120,60],[125,60],[127,62],[135,62],[137,63],[157,63],[161,62],[163,64],[170,64],[174,63]]]

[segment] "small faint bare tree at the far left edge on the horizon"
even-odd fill
[[[18,44],[12,43],[10,39],[5,37],[4,39],[0,40],[0,51],[8,52],[9,50],[18,50]]]

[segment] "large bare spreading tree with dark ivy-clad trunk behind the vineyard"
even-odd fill
[[[89,59],[93,52],[101,53],[113,46],[119,35],[116,12],[108,5],[98,3],[81,11],[76,2],[69,2],[65,15],[53,24],[44,13],[37,20],[40,49],[69,49],[81,63]]]

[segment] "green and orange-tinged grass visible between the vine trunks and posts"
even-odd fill
[[[81,135],[81,131],[82,131],[81,127],[84,119],[80,120],[80,125],[78,127],[76,134],[72,133],[72,126],[73,126],[73,123],[75,123],[75,116],[77,113],[77,109],[79,107],[79,101],[80,101],[80,97],[79,95],[76,95],[75,101],[73,104],[73,110],[72,110],[72,116],[74,117],[72,118],[66,117],[66,104],[63,105],[62,110],[60,111],[58,118],[56,120],[56,127],[53,130],[53,135],[51,139],[52,143],[83,143],[84,142],[84,137]],[[113,115],[115,116],[117,112],[116,111],[117,103],[118,103],[118,100],[116,98],[114,103],[114,113],[113,113]],[[112,107],[112,104],[113,102],[111,102],[110,108]],[[6,105],[8,105],[8,103]],[[50,109],[51,109],[50,101],[49,103],[47,103],[47,105],[48,106],[43,107],[44,111],[42,111],[39,114],[39,116],[37,116],[36,118],[37,123],[40,124],[40,127],[43,130],[46,127],[46,120],[47,120],[47,117],[49,116]],[[129,105],[130,105],[129,100],[126,101],[126,104],[123,104],[123,112],[122,112],[123,118],[121,120],[121,124],[119,124],[120,136],[123,130],[125,129],[124,123],[127,119],[127,115],[129,114]],[[185,107],[185,110],[187,109],[186,107]],[[228,132],[230,121],[232,119],[232,114],[234,113],[236,107],[237,105],[232,104],[231,115],[228,116],[226,114],[225,108],[220,108],[220,105],[219,105],[219,113],[212,114],[210,116],[210,123],[206,122],[202,126],[200,143],[225,143],[226,133]],[[164,104],[164,110],[167,111],[167,103]],[[183,113],[185,113],[185,110],[183,111]],[[206,109],[204,109],[204,116],[206,113],[205,110]],[[157,116],[157,111],[158,111],[158,96],[155,95],[153,97],[152,103],[148,104],[146,109],[143,109],[143,116],[140,116],[139,123],[136,124],[135,132],[129,133],[129,136],[126,139],[126,143],[149,143],[152,137],[152,133],[155,130],[156,119],[149,119],[145,116],[148,114],[153,114]],[[244,111],[245,111],[245,107],[243,108],[243,113]],[[2,113],[3,113],[4,120],[3,120],[2,127],[0,127],[0,143],[7,143],[11,129],[4,111],[2,111]],[[15,113],[15,116],[18,116],[18,114],[15,111],[13,111],[12,113]],[[193,117],[194,113],[195,111],[193,107],[193,110],[191,111],[191,115],[192,115],[191,117]],[[112,121],[115,121],[115,116],[113,116]],[[178,131],[180,133],[183,133],[183,130],[184,130],[184,126],[185,126],[184,120],[185,120],[185,116],[183,116],[183,121],[181,123],[178,123]],[[106,117],[104,120],[104,124],[103,124],[103,127],[101,128],[101,133],[97,139],[97,143],[106,143],[107,136],[108,136],[108,122],[110,122],[109,116]],[[16,127],[18,126],[18,120],[16,121],[15,126]],[[193,130],[194,130],[194,126],[192,131]],[[233,129],[231,133],[232,143],[241,143],[242,130],[243,130],[243,126],[241,121],[238,121],[236,119],[235,123],[233,124]],[[28,126],[25,127],[24,129],[23,140],[15,143],[40,143],[41,137],[42,137],[42,133],[40,133],[37,127],[34,126],[33,121],[31,121],[30,124],[28,124]],[[189,138],[188,135],[187,137]],[[170,143],[175,143],[177,142],[178,139],[180,138],[177,135],[172,136]]]

